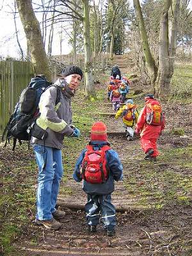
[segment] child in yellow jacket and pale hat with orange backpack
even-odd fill
[[[134,104],[132,99],[126,101],[126,105],[120,108],[115,115],[115,118],[122,116],[122,121],[124,123],[125,132],[127,132],[127,140],[133,140],[134,130],[133,125],[138,121],[138,111],[137,106]]]

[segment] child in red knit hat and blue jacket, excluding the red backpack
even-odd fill
[[[102,147],[109,146],[107,128],[102,122],[93,124],[88,148],[90,145],[93,150],[102,150]],[[111,193],[115,189],[114,180],[123,179],[123,166],[115,150],[109,148],[105,155],[108,179],[102,183],[90,183],[85,180],[82,173],[82,163],[84,163],[83,159],[87,150],[87,148],[84,148],[79,159],[77,159],[73,177],[77,182],[83,179],[83,190],[88,198],[85,205],[88,228],[90,232],[96,232],[99,219],[101,219],[107,236],[114,236],[116,217],[115,206],[111,203]]]

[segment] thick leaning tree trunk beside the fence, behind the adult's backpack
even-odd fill
[[[44,49],[40,26],[33,12],[31,0],[16,0],[16,3],[26,33],[31,62],[33,63],[35,73],[45,74],[47,79],[51,80],[51,70]]]

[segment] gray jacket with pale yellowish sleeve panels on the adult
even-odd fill
[[[40,116],[36,124],[47,131],[45,146],[61,149],[64,136],[70,136],[74,131],[70,127],[72,123],[71,97],[74,93],[65,79],[58,79],[54,84],[60,86],[60,102],[56,104],[57,88],[55,86],[47,88],[40,98]],[[43,140],[38,140],[33,136],[31,143],[44,145]]]

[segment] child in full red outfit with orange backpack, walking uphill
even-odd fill
[[[159,102],[154,95],[147,94],[145,106],[141,109],[135,132],[140,133],[141,147],[145,152],[145,160],[157,161],[157,139],[164,129],[164,116]]]

